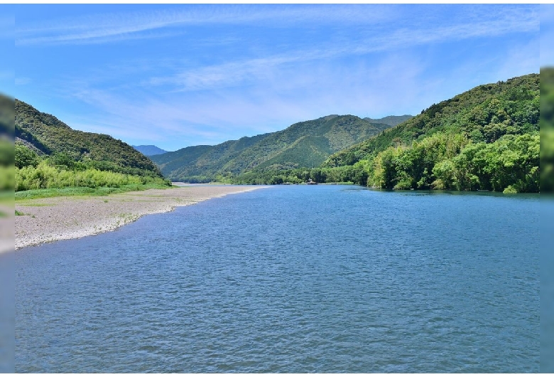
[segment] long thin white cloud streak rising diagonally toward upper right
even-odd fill
[[[540,25],[535,11],[520,14],[519,17],[516,17],[517,14],[513,11],[503,11],[494,16],[500,18],[475,21],[470,17],[467,23],[447,26],[433,27],[425,24],[420,29],[399,28],[392,33],[371,35],[368,32],[358,38],[350,38],[335,44],[325,43],[311,49],[303,48],[263,58],[227,61],[199,68],[183,68],[177,73],[153,77],[146,83],[171,85],[176,90],[183,91],[209,90],[263,80],[271,75],[271,70],[278,70],[283,66],[299,62],[397,51],[401,48],[413,48],[430,43],[453,43],[469,38],[500,36],[506,33],[538,32]]]

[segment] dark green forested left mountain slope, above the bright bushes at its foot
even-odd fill
[[[53,115],[20,100],[15,100],[15,110],[16,147],[20,152],[51,156],[61,165],[79,163],[102,171],[161,177],[150,159],[121,140],[71,129]]]

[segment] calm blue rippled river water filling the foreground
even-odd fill
[[[20,250],[16,372],[538,372],[539,199],[275,186]]]

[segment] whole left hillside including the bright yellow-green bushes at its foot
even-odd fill
[[[129,144],[106,134],[71,129],[20,100],[15,100],[13,150],[16,191],[109,193],[170,185],[158,167]]]

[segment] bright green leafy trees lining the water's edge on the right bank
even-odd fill
[[[411,147],[379,153],[371,161],[367,183],[399,190],[504,191],[511,187],[516,192],[537,192],[539,150],[538,132],[469,144],[453,135],[434,134]]]

